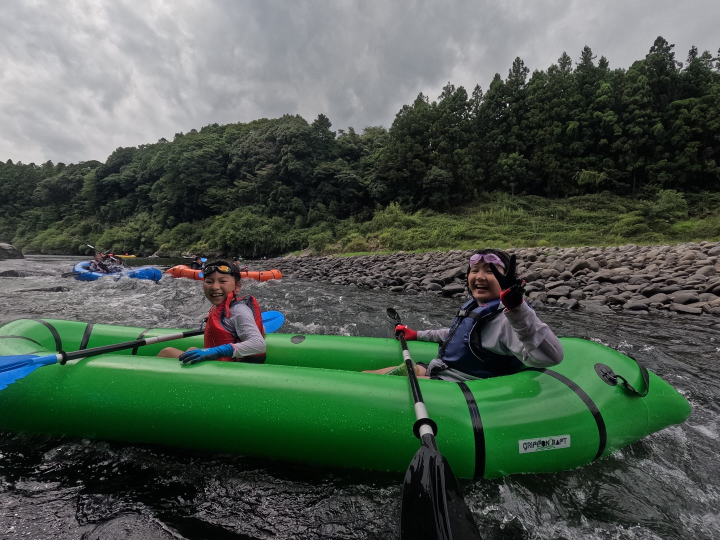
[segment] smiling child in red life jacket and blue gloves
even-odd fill
[[[179,359],[183,364],[205,360],[265,361],[265,333],[260,307],[250,294],[241,296],[240,270],[225,260],[215,261],[203,271],[203,291],[212,307],[205,319],[204,348],[186,352],[166,347],[158,356]]]

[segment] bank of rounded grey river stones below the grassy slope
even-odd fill
[[[610,248],[518,248],[518,270],[533,305],[580,310],[666,310],[720,315],[720,243]],[[286,277],[467,297],[473,251],[274,259]]]

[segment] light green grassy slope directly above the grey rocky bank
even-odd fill
[[[410,215],[392,205],[359,226],[353,248],[348,243],[341,246],[346,252],[362,252],[356,247],[362,245],[361,239],[370,245],[371,237],[377,238],[378,249],[384,251],[720,240],[717,207],[714,215],[683,220],[691,207],[683,194],[673,190],[660,191],[649,200],[608,192],[567,199],[485,194],[477,204],[452,214]]]

